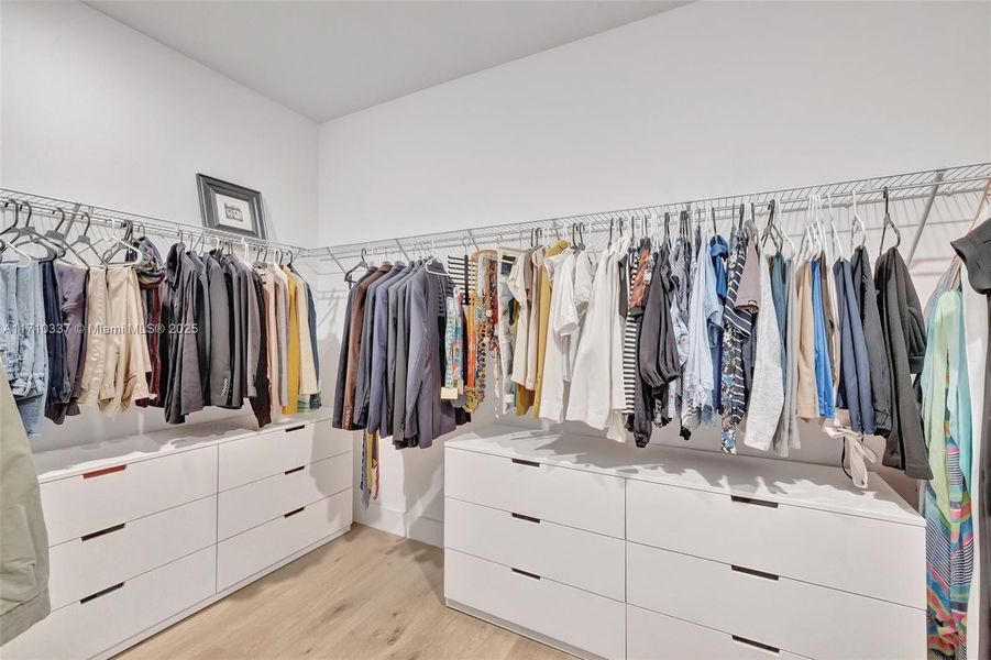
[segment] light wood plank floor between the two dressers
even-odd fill
[[[355,525],[118,659],[569,657],[445,607],[443,559],[440,548]]]

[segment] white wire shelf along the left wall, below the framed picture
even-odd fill
[[[179,233],[181,232],[181,235],[184,237],[202,238],[205,240],[216,239],[220,241],[230,241],[233,243],[244,243],[255,248],[280,250],[287,253],[295,253],[297,255],[306,252],[306,250],[297,245],[289,245],[288,243],[278,243],[264,239],[242,237],[239,233],[223,231],[220,229],[197,227],[195,224],[184,224],[181,222],[173,222],[170,220],[162,220],[159,218],[152,218],[148,216],[139,216],[136,213],[130,213],[126,211],[119,211],[92,205],[84,205],[81,202],[58,199],[55,197],[46,197],[43,195],[34,195],[20,190],[0,188],[0,207],[2,207],[3,202],[7,200],[16,201],[20,204],[29,204],[31,206],[32,212],[35,213],[35,218],[37,217],[37,215],[41,215],[57,220],[62,217],[62,213],[65,213],[65,217],[67,219],[76,217],[76,227],[80,229],[86,224],[81,219],[81,213],[85,212],[90,217],[90,219],[92,220],[92,226],[95,227],[120,229],[125,227],[126,223],[130,222],[135,228],[144,231],[145,233],[159,237],[178,238]]]

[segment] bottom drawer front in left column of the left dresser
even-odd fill
[[[207,548],[63,607],[4,645],[3,659],[91,658],[212,596],[214,569]]]

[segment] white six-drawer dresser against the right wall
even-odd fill
[[[448,605],[588,658],[925,658],[925,522],[880,476],[488,427],[444,449]]]

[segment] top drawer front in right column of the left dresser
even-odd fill
[[[351,451],[351,433],[330,421],[299,424],[220,446],[220,490]]]

